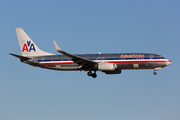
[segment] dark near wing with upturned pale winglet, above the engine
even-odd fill
[[[86,59],[86,58],[83,58],[83,57],[80,57],[80,56],[77,56],[77,55],[72,55],[72,54],[70,54],[70,53],[67,53],[67,52],[61,50],[61,48],[58,46],[58,44],[57,44],[55,41],[53,41],[53,42],[54,42],[55,48],[56,48],[56,50],[57,50],[58,52],[62,53],[62,54],[65,55],[65,56],[68,56],[68,57],[72,58],[72,60],[73,60],[75,63],[79,64],[79,65],[83,65],[84,67],[85,67],[85,66],[88,67],[88,66],[94,66],[94,65],[97,65],[97,64],[98,64],[97,62],[88,60],[88,59]]]

